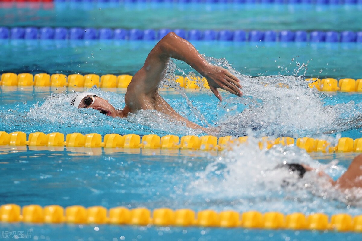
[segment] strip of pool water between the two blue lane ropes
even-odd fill
[[[361,4],[5,4],[1,25],[11,27],[362,30]]]

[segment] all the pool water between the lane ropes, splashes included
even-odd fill
[[[0,3],[0,25],[122,27],[126,29],[361,30],[361,5],[85,4]],[[167,20],[167,21],[166,21]],[[156,41],[1,40],[0,74],[135,74]],[[360,138],[361,93],[321,93],[303,76],[361,78],[360,43],[227,43],[195,41],[207,60],[229,69],[243,97],[222,92],[218,102],[205,89],[184,90],[169,83],[175,74],[198,75],[180,61],[169,63],[161,95],[178,112],[215,136],[249,136],[231,150],[45,148],[0,146],[0,204],[63,207],[101,205],[195,211],[280,211],[305,215],[361,215],[352,200],[309,173],[283,187],[275,166],[306,163],[338,179],[357,153],[306,153],[295,146],[260,150],[262,136],[311,136],[335,145]],[[253,77],[249,77],[253,76]],[[280,88],[280,83],[288,88]],[[168,89],[167,86],[174,87]],[[0,131],[27,135],[71,132],[121,135],[197,135],[155,111],[110,118],[68,101],[76,88],[0,88]],[[125,89],[91,89],[123,108]],[[216,127],[216,129],[215,129]],[[360,193],[357,193],[360,195]],[[357,195],[357,196],[358,196]],[[360,240],[358,233],[333,231],[36,225],[0,223],[3,232],[30,232],[33,240]]]

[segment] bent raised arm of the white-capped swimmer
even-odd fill
[[[146,95],[157,91],[169,58],[182,60],[203,75],[207,79],[212,93],[220,101],[222,101],[222,97],[218,88],[237,96],[242,95],[239,79],[228,70],[209,64],[191,43],[173,32],[161,39],[148,54],[144,66],[134,75],[132,79],[134,83],[131,82],[130,87],[136,87],[139,92]]]

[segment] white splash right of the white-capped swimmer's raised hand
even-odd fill
[[[356,105],[350,101],[347,104],[324,106],[323,99],[327,95],[309,88],[303,76],[251,78],[233,69],[225,59],[207,57],[207,60],[228,69],[240,79],[243,86],[244,97],[229,98],[226,105],[244,105],[246,109],[241,108],[241,113],[225,116],[219,121],[222,127],[220,136],[245,135],[248,128],[254,134],[268,136],[320,135],[332,130],[349,129],[361,123],[361,103]],[[294,72],[298,74],[303,69],[307,70],[304,63]],[[346,113],[349,113],[347,121]]]

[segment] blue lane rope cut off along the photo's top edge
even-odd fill
[[[93,0],[54,0],[93,3]],[[149,0],[152,3],[237,3],[237,4],[362,4],[362,0]],[[146,0],[96,0],[98,3],[144,3]]]

